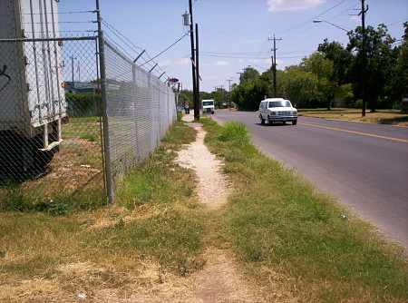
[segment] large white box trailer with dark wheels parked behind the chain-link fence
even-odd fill
[[[42,170],[63,141],[57,3],[0,0],[0,179]]]

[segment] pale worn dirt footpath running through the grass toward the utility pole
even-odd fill
[[[183,120],[192,121],[191,115]],[[199,123],[189,123],[197,131],[195,142],[179,152],[177,161],[180,166],[196,172],[199,184],[199,200],[209,207],[209,211],[217,211],[227,202],[230,188],[228,180],[220,173],[223,165],[204,145],[206,132]],[[192,297],[197,302],[260,302],[256,298],[253,287],[244,282],[238,274],[231,253],[226,249],[209,247],[206,251],[206,265],[192,275]]]

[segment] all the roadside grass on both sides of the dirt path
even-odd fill
[[[180,122],[115,184],[113,205],[73,195],[35,209],[10,184],[0,212],[0,301],[63,302],[109,288],[126,298],[166,273],[199,270],[209,244],[232,248],[271,302],[408,300],[403,249],[258,152],[242,124],[200,122],[234,187],[221,210],[199,204],[196,176],[174,161],[196,132]]]

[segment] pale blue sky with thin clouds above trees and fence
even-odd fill
[[[360,0],[192,0],[192,5],[193,23],[199,26],[201,92],[221,85],[228,90],[248,66],[265,72],[274,35],[277,69],[284,70],[316,52],[325,38],[346,45],[345,30],[361,25]],[[385,24],[393,38],[402,38],[408,0],[365,0],[365,5],[366,26]],[[183,89],[192,89],[189,27],[182,18],[189,0],[100,0],[100,8],[108,39],[131,44],[134,58],[146,50],[159,64],[156,74],[165,72],[179,79]],[[96,20],[94,14],[74,13],[94,9],[93,0],[61,0],[59,12],[72,13],[60,16],[62,34],[94,29],[94,23],[87,23]],[[323,22],[313,23],[316,19]]]

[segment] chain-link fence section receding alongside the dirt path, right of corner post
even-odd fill
[[[112,174],[128,170],[154,151],[177,119],[170,87],[105,43],[107,113]]]

